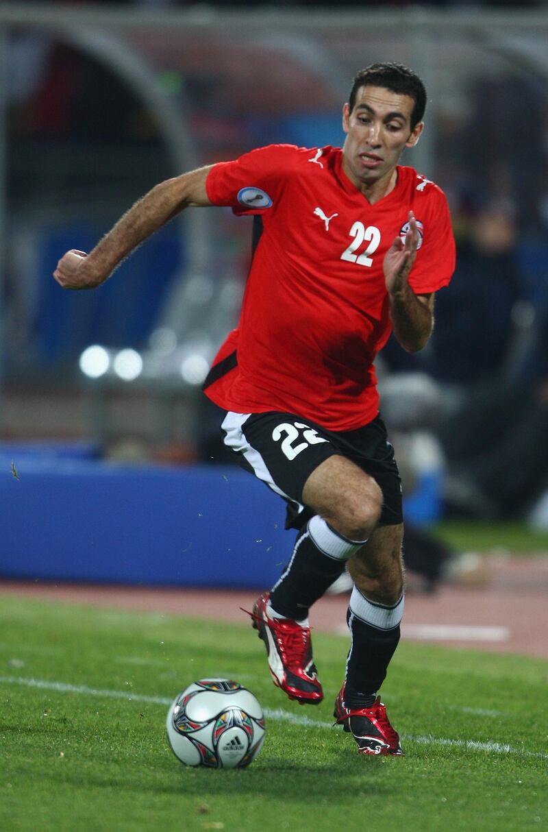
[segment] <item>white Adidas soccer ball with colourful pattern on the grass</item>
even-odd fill
[[[237,681],[202,679],[177,696],[167,712],[171,750],[185,765],[243,768],[264,740],[263,709]]]

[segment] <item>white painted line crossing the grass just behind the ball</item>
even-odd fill
[[[47,691],[59,691],[60,693],[83,693],[86,696],[106,696],[111,699],[125,699],[128,702],[151,702],[155,705],[170,705],[173,699],[165,696],[145,696],[143,694],[130,694],[126,691],[109,691],[104,688],[88,687],[86,685],[69,685],[63,681],[47,681],[42,679],[26,678],[24,676],[0,676],[0,684],[23,685],[25,687],[36,687]],[[175,699],[175,696],[173,697]],[[331,728],[332,722],[322,722],[310,719],[304,714],[293,714],[284,711],[282,708],[265,708],[264,716],[270,720],[290,722],[293,725],[311,728]],[[513,745],[503,745],[499,742],[478,742],[476,740],[451,740],[447,737],[436,737],[432,734],[427,736],[402,735],[403,740],[418,742],[422,745],[450,745],[453,748],[464,748],[470,750],[489,751],[493,754],[522,754],[529,757],[542,757],[548,759],[548,754],[537,751],[527,751],[523,748],[516,748]]]

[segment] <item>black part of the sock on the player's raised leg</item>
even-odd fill
[[[270,603],[285,618],[301,621],[333,581],[343,574],[346,561],[320,552],[304,527],[295,542],[294,554],[284,574],[270,593]]]

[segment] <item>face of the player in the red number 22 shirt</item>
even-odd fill
[[[415,102],[384,87],[360,87],[353,111],[343,107],[343,168],[358,188],[388,184],[406,147],[417,144],[422,122],[411,129]]]

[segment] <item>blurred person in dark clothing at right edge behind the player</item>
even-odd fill
[[[548,310],[526,301],[513,203],[484,200],[465,227],[429,356],[452,402],[437,428],[446,503],[461,515],[520,517],[548,473]]]

